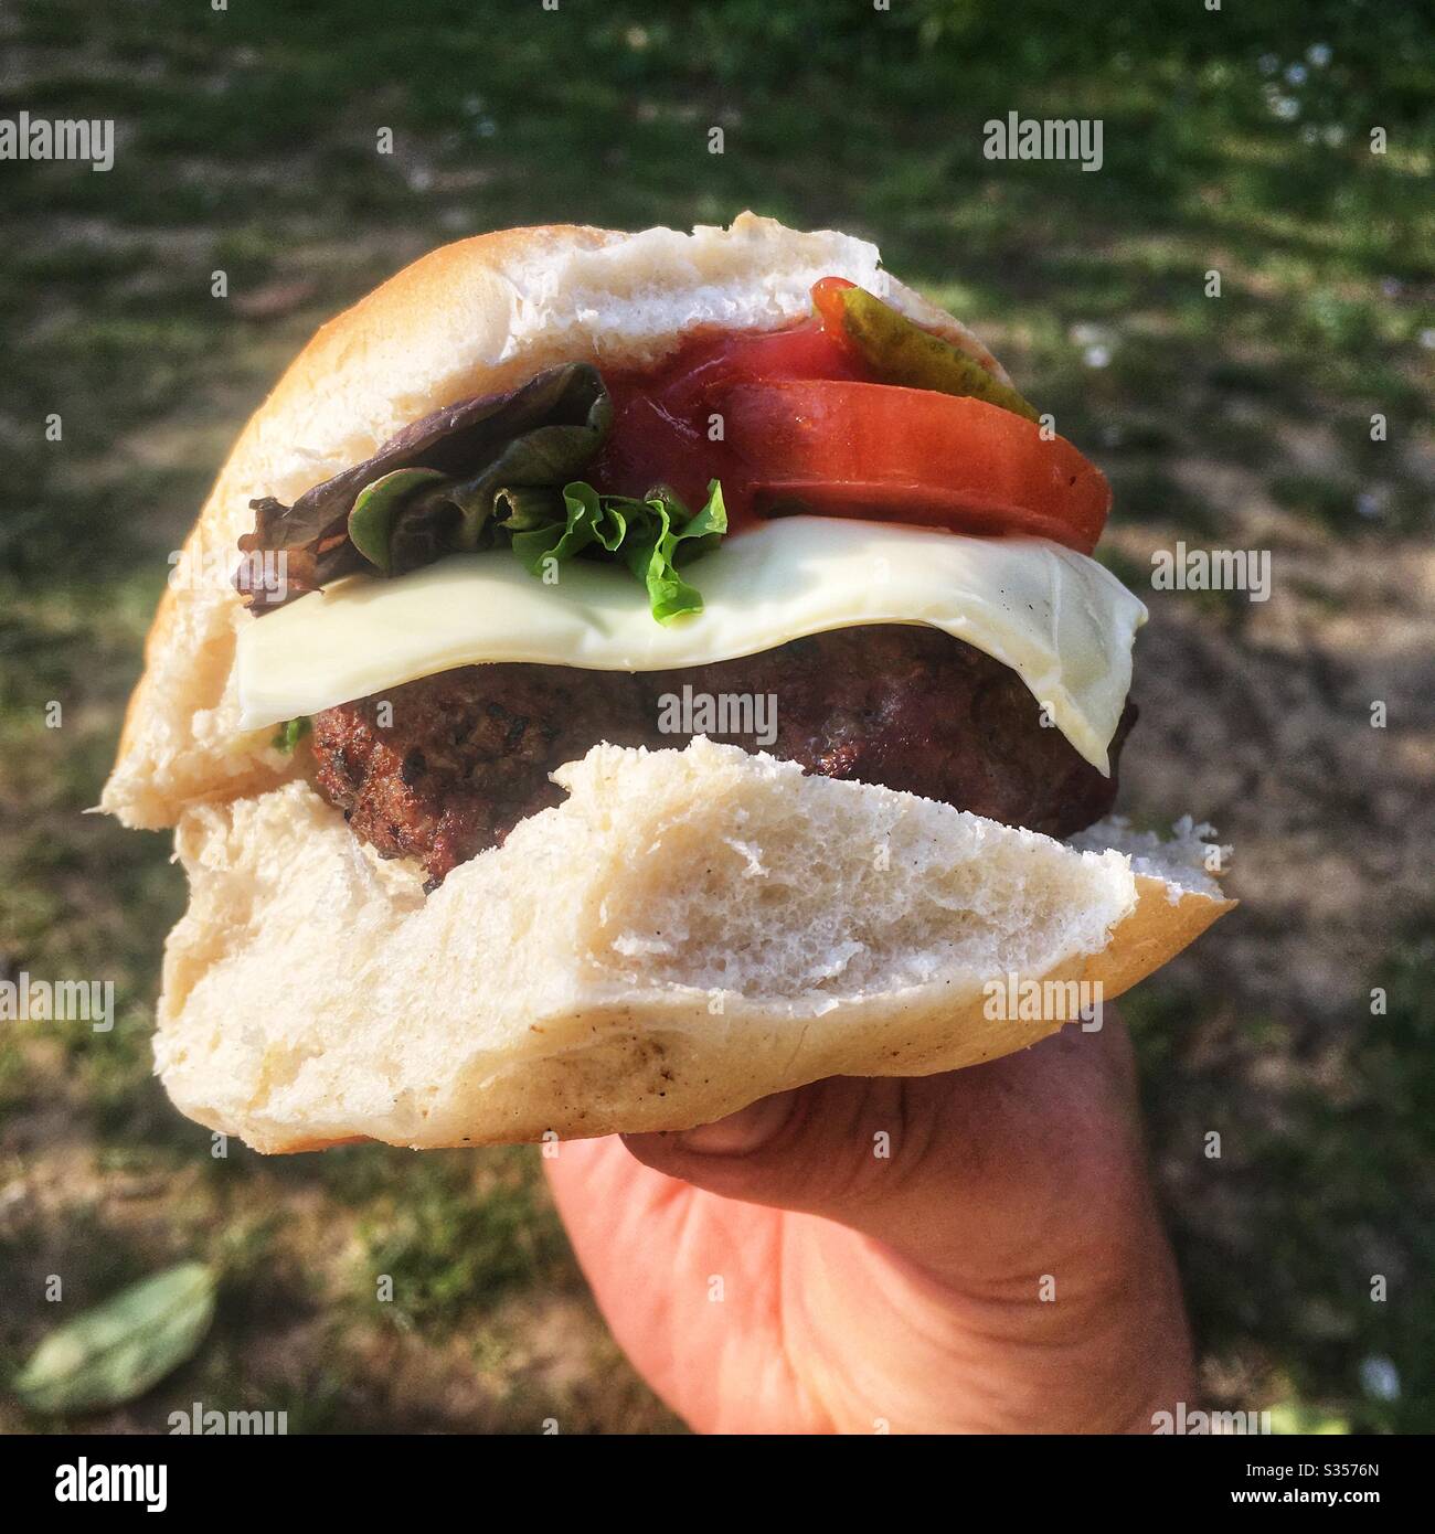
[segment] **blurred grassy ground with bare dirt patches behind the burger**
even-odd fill
[[[210,1158],[149,1074],[183,879],[166,838],[81,811],[166,555],[316,324],[467,233],[754,207],[876,238],[1116,485],[1105,557],[1153,609],[1122,804],[1212,819],[1245,902],[1125,1003],[1208,1404],[1435,1428],[1421,9],[11,0],[0,114],[112,117],[118,149],[0,164],[0,966],[111,977],[118,1022],[0,1025],[0,1381],[54,1321],[45,1275],[72,1313],[198,1255],[223,1289],[196,1359],[71,1425],[195,1399],[290,1431],[675,1425],[533,1152]],[[984,160],[1008,110],[1100,118],[1103,169]],[[1177,538],[1271,549],[1272,600],[1151,592]],[[0,1427],[48,1425],[0,1387]]]

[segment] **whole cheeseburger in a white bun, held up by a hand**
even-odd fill
[[[863,239],[401,272],[239,437],[104,788],[189,877],[170,1097],[259,1150],[681,1129],[1117,996],[1231,902],[1209,827],[1110,816],[1110,500]]]

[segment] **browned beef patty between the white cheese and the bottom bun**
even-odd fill
[[[704,730],[700,716],[677,716],[685,687],[689,698],[757,707]],[[770,744],[723,733],[723,724],[754,719],[769,726]],[[313,753],[319,788],[355,834],[385,858],[419,859],[434,888],[519,821],[560,804],[548,773],[599,741],[681,747],[691,726],[827,778],[1070,836],[1111,808],[1134,719],[1127,704],[1103,778],[1061,730],[1042,726],[1016,672],[938,629],[902,624],[666,672],[465,666],[316,715]]]

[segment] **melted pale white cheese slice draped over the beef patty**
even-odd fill
[[[789,517],[688,568],[701,614],[657,623],[611,565],[553,583],[508,549],[460,554],[396,580],[351,575],[239,632],[241,726],[261,729],[487,661],[665,670],[775,649],[829,629],[918,623],[1010,666],[1100,772],[1131,684],[1146,609],[1094,560],[1041,538],[833,517]],[[781,706],[781,703],[780,703]]]

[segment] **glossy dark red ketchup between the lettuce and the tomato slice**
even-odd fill
[[[698,330],[655,368],[603,368],[614,405],[612,431],[589,479],[619,495],[668,485],[689,511],[704,503],[708,482],[718,479],[729,532],[760,526],[763,518],[752,509],[755,466],[744,459],[741,443],[714,436],[720,428],[712,417],[721,417],[732,385],[769,379],[873,382],[820,319],[766,333]]]

